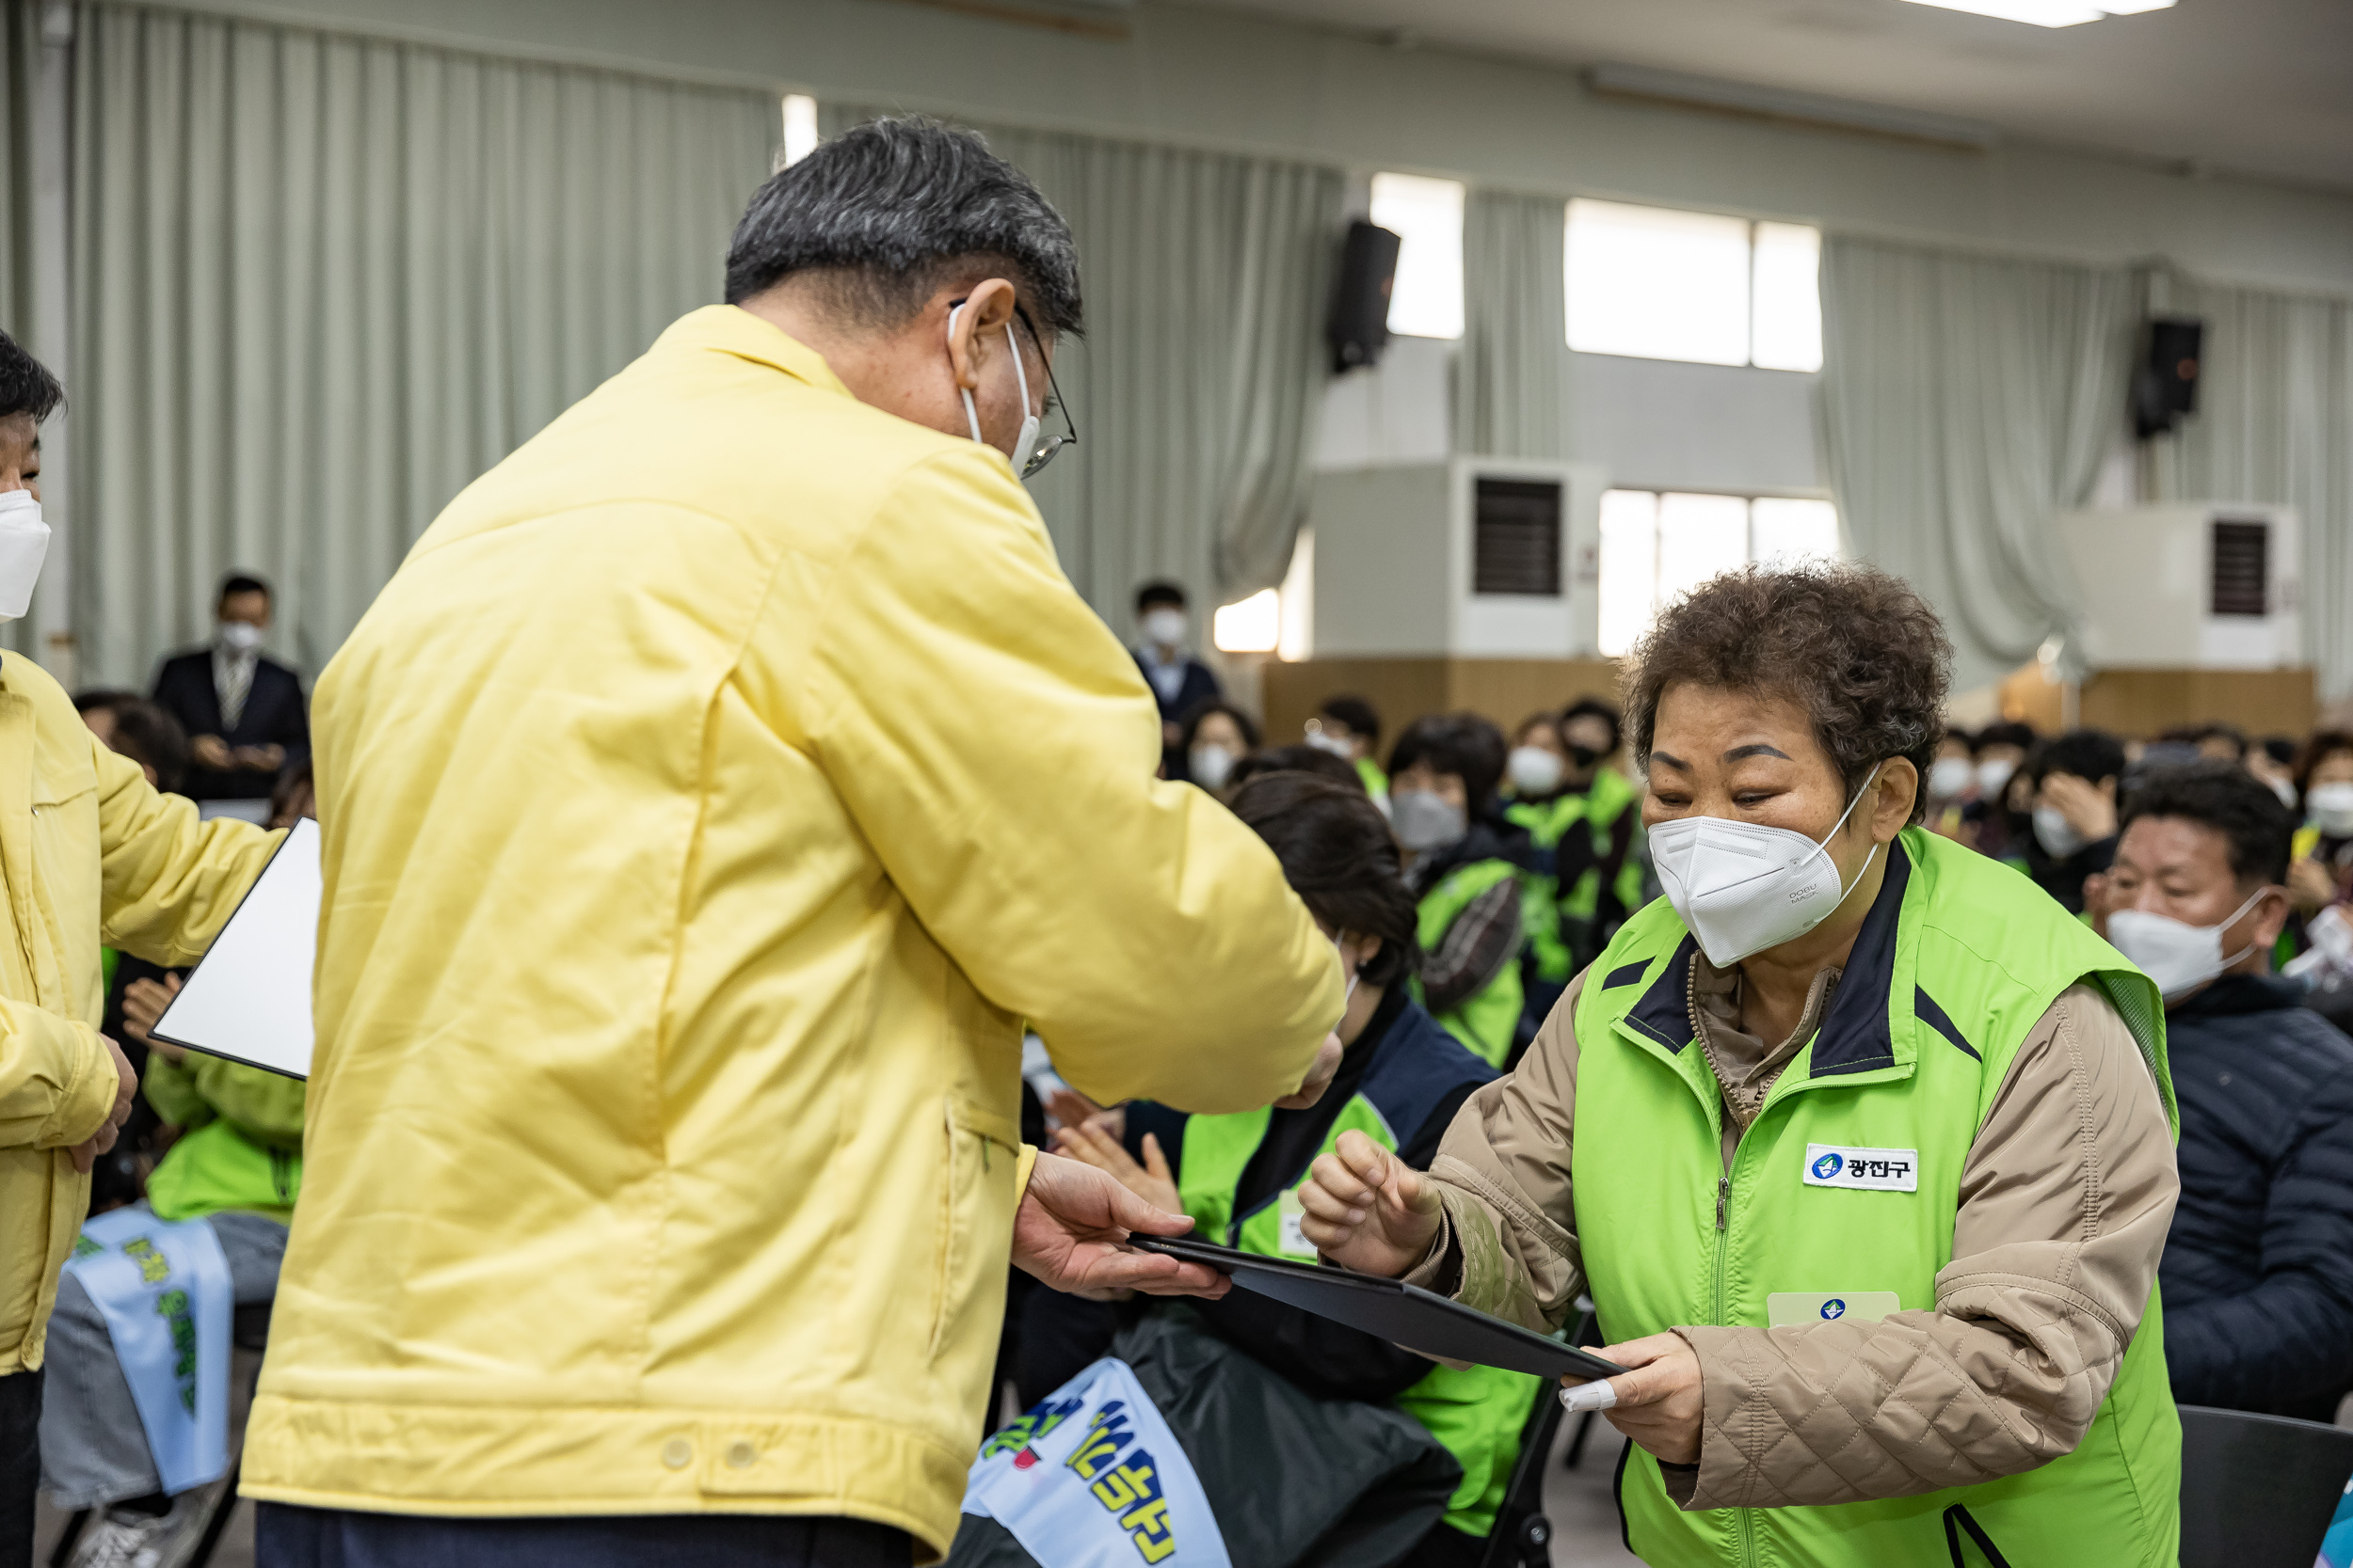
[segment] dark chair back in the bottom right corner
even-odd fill
[[[2313,1568],[2353,1432],[2181,1406],[2181,1568]]]

